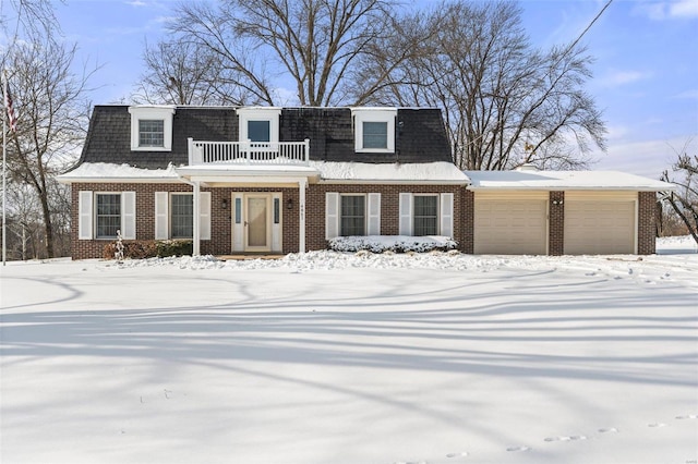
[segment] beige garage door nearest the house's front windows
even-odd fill
[[[547,254],[547,192],[474,196],[474,253]]]

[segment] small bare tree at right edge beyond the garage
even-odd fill
[[[672,209],[686,224],[688,233],[698,243],[698,156],[689,156],[685,152],[677,152],[676,162],[673,166],[674,175],[669,175],[669,170],[662,173],[662,181],[676,185],[677,192],[673,192],[665,197]]]

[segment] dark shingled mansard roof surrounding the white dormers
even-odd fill
[[[131,149],[131,113],[128,106],[96,106],[80,163],[127,163],[158,169],[189,161],[188,138],[210,142],[239,141],[233,107],[174,107],[172,147],[168,151]],[[450,147],[438,109],[398,108],[395,152],[356,152],[350,108],[282,108],[279,142],[310,139],[314,161],[369,163],[452,162]]]

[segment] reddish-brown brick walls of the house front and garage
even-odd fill
[[[72,256],[74,259],[98,258],[104,247],[112,240],[79,240],[79,194],[91,192],[135,192],[136,197],[136,239],[155,237],[155,192],[192,192],[188,184],[180,183],[75,183],[72,185]],[[201,253],[227,255],[232,253],[232,205],[233,192],[280,193],[282,253],[296,253],[299,249],[299,190],[298,187],[217,187],[202,188],[212,193],[212,239],[201,242]],[[399,233],[399,194],[454,194],[454,240],[458,248],[468,254],[474,248],[474,194],[458,185],[357,185],[357,184],[311,184],[305,195],[305,248],[325,249],[325,194],[327,192],[381,194],[381,234]],[[228,203],[224,207],[224,199]],[[564,249],[564,192],[550,193],[549,254],[562,255]],[[289,204],[290,200],[290,204]],[[556,204],[558,202],[558,204]],[[290,205],[290,209],[289,209]],[[638,194],[638,251],[640,255],[653,254],[654,249],[655,194]]]

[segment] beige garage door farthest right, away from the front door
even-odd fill
[[[634,254],[637,194],[565,194],[567,255]]]

